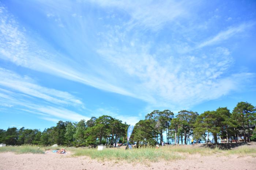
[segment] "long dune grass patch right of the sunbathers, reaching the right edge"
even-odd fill
[[[188,154],[200,154],[203,156],[210,156],[213,154],[220,155],[251,155],[255,157],[256,147],[241,146],[232,150],[221,150],[218,147],[211,149],[205,147],[193,147],[193,146],[170,146],[160,148],[134,148],[132,150],[124,150],[124,148],[106,148],[102,151],[96,149],[81,149],[74,148],[73,156],[88,156],[92,159],[100,160],[126,160],[128,162],[143,162],[148,161],[160,161],[160,160],[176,160],[185,159]]]

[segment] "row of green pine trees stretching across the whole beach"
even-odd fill
[[[244,136],[244,142],[256,140],[256,129],[249,127],[256,124],[256,108],[247,102],[240,102],[231,113],[227,107],[216,111],[198,114],[182,110],[176,116],[170,110],[154,110],[136,123],[129,142],[137,144],[156,144],[161,141],[172,144],[188,144],[189,138],[197,142],[209,142],[213,136],[229,141],[230,136]],[[78,123],[59,121],[56,126],[40,131],[37,129],[8,128],[0,129],[0,143],[8,145],[39,144],[64,146],[89,146],[127,142],[128,124],[111,116],[103,115]],[[165,134],[165,135],[164,135]],[[164,139],[164,136],[166,138]]]

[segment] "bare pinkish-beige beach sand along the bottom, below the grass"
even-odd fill
[[[256,157],[251,155],[184,154],[185,159],[173,161],[128,163],[125,161],[98,161],[89,157],[71,157],[71,154],[14,154],[0,153],[0,170],[255,170]]]

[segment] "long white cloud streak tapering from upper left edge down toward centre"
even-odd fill
[[[3,6],[1,6],[1,11],[0,58],[23,67],[53,74],[102,90],[133,96],[125,89],[86,74],[90,69],[84,68],[83,65],[79,65],[72,59],[59,55],[56,51],[51,53],[39,48],[33,40],[27,38],[26,30],[20,28],[18,22]]]

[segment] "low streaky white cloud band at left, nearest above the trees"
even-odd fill
[[[0,69],[0,103],[38,115],[44,120],[88,120],[89,117],[64,108],[67,105],[84,108],[82,101],[70,93],[36,84],[27,76]],[[4,89],[3,89],[4,88]]]

